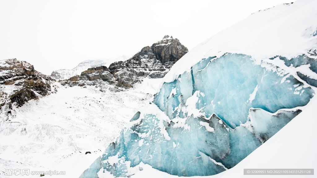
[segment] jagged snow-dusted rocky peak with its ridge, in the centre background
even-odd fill
[[[130,88],[142,78],[163,78],[172,65],[183,57],[188,49],[177,38],[165,35],[161,41],[141,49],[126,61],[93,67],[66,80],[62,85],[85,86],[106,81],[117,87]]]

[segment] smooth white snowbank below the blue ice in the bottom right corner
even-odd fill
[[[315,159],[317,135],[315,125],[317,124],[316,107],[317,101],[303,110],[298,116],[286,124],[273,137],[268,139],[249,156],[244,158],[235,167],[223,172],[221,178],[245,177],[245,168],[314,168],[317,165]],[[309,123],[309,124],[308,124]],[[298,153],[298,156],[291,156]],[[253,177],[262,177],[253,175]],[[270,177],[281,177],[270,175]],[[213,178],[213,176],[210,176]]]

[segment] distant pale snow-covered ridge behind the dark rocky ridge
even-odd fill
[[[75,75],[80,75],[81,72],[87,70],[88,68],[99,67],[99,66],[109,67],[109,65],[112,64],[113,62],[125,61],[128,59],[130,59],[129,56],[121,55],[117,57],[116,59],[84,60],[73,69],[59,69],[59,70],[53,71],[51,74],[51,77],[56,80],[69,79],[70,77],[73,77]]]

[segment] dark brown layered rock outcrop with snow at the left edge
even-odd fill
[[[0,61],[0,117],[8,119],[13,106],[21,107],[30,99],[38,99],[52,92],[47,75],[37,72],[34,67],[16,59]],[[56,89],[53,89],[56,92]]]

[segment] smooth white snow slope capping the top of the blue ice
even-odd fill
[[[208,38],[176,62],[165,82],[178,78],[203,58],[238,53],[256,60],[282,55],[288,59],[317,48],[316,1],[299,0],[280,4],[250,15],[241,22]],[[310,54],[307,54],[310,55]]]

